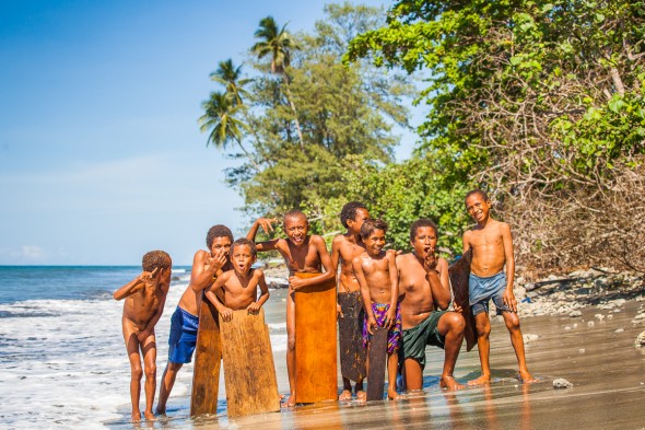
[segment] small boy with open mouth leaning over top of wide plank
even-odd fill
[[[231,265],[233,270],[225,271],[207,291],[206,297],[216,307],[222,319],[233,319],[233,311],[246,309],[249,313],[258,313],[262,304],[269,299],[269,288],[265,281],[265,274],[260,269],[251,268],[256,262],[256,245],[248,239],[238,239],[231,246]],[[258,298],[258,287],[260,297]],[[215,292],[224,291],[224,303]],[[270,353],[270,351],[268,351]]]

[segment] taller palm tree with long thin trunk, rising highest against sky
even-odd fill
[[[255,37],[259,38],[260,42],[256,43],[251,50],[256,53],[259,59],[268,55],[271,56],[271,72],[280,74],[284,81],[286,101],[293,112],[295,130],[301,148],[304,149],[303,132],[301,131],[297,112],[291,96],[291,90],[289,89],[289,75],[286,74],[286,68],[291,63],[291,49],[297,49],[297,45],[291,38],[291,35],[286,33],[285,28],[286,24],[282,28],[279,28],[273,16],[263,18],[260,20],[260,27],[255,33]]]

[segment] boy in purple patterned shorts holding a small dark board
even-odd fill
[[[387,224],[382,220],[367,219],[361,226],[365,252],[352,259],[354,274],[361,286],[365,321],[364,345],[370,348],[370,338],[375,326],[388,329],[387,338],[387,397],[397,399],[398,351],[401,341],[401,313],[398,305],[399,280],[394,253],[383,251]],[[367,361],[370,367],[370,361]],[[367,371],[368,372],[368,371]]]

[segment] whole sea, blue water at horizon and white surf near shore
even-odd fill
[[[0,428],[103,428],[129,417],[124,303],[112,293],[140,272],[122,266],[0,266]],[[190,267],[174,267],[172,279],[155,328],[156,396],[171,315],[188,286]],[[284,351],[284,303],[269,300],[265,313],[273,352]],[[191,380],[188,364],[172,396],[189,395]],[[223,386],[220,397],[225,398]],[[145,407],[143,386],[140,406]]]

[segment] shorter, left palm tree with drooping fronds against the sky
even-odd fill
[[[199,118],[199,129],[201,132],[211,131],[207,147],[212,143],[216,148],[225,149],[231,141],[234,141],[259,172],[260,166],[242,144],[242,132],[246,125],[237,119],[236,115],[245,109],[245,106],[233,103],[227,93],[212,92],[211,97],[202,103],[202,108],[204,114]]]

